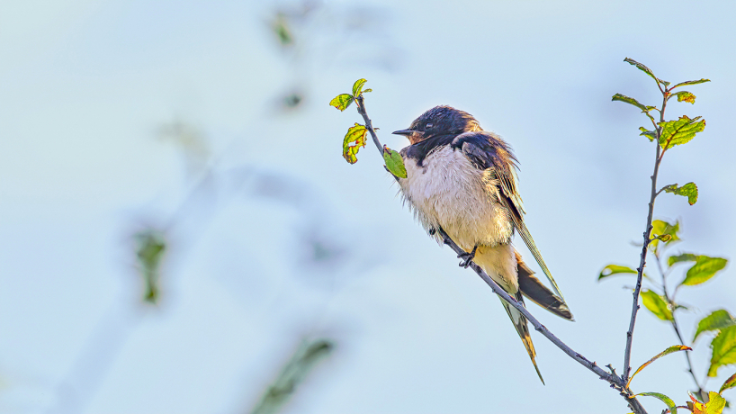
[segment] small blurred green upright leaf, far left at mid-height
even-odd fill
[[[156,229],[146,229],[137,233],[135,238],[138,244],[136,256],[138,257],[140,274],[146,284],[143,300],[156,303],[160,293],[158,288],[159,267],[164,253],[166,253],[166,237]]]

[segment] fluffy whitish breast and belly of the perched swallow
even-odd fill
[[[442,229],[466,251],[476,245],[507,243],[513,223],[498,203],[491,170],[473,166],[461,150],[437,148],[424,159],[404,158],[407,178],[399,179],[404,199],[425,229]]]

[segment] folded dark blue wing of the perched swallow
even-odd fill
[[[542,267],[544,275],[550,280],[554,292],[562,298],[560,288],[552,278],[552,273],[544,263],[539,249],[534,243],[529,229],[524,223],[524,205],[516,190],[516,168],[517,161],[508,144],[496,134],[488,131],[465,132],[453,139],[453,148],[462,150],[471,163],[478,169],[492,170],[498,180],[498,193],[500,202],[507,208],[514,227],[519,236],[524,239],[526,247],[532,252],[534,259]],[[564,300],[564,298],[563,298]]]

